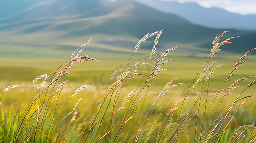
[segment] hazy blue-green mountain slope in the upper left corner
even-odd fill
[[[30,1],[30,0],[28,0]],[[42,20],[42,19],[59,19],[59,17],[73,18],[74,16],[86,13],[102,5],[108,4],[108,0],[41,0],[34,4],[28,2],[23,9],[16,12],[18,14],[7,14],[1,23],[10,23],[23,20]],[[19,4],[19,3],[17,3]],[[17,5],[15,4],[15,5]],[[1,7],[4,7],[3,5]],[[11,8],[11,3],[5,4],[5,7]],[[11,8],[13,9],[13,8]],[[8,13],[8,11],[6,11]]]

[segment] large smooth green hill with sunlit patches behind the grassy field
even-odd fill
[[[0,20],[0,46],[74,49],[94,37],[90,45],[95,51],[126,51],[134,48],[145,34],[161,29],[164,32],[159,48],[178,46],[185,52],[195,53],[209,51],[215,35],[227,30],[196,25],[134,0],[47,0]],[[244,52],[256,45],[248,39],[255,32],[228,30],[231,33],[225,36],[242,35],[247,38],[243,42],[249,45],[233,47],[238,49],[233,52]],[[238,45],[243,44],[239,42]],[[141,48],[151,49],[152,44],[145,41]]]

